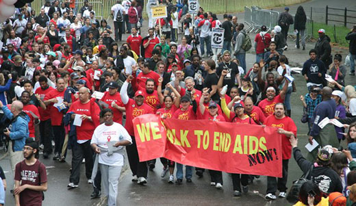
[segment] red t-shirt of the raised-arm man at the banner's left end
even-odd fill
[[[137,105],[133,99],[129,99],[127,104],[125,105],[126,108],[126,123],[125,129],[129,133],[130,136],[134,136],[135,133],[133,132],[133,124],[132,120],[136,116],[140,116],[142,114],[154,114],[152,107],[143,103],[142,105]]]

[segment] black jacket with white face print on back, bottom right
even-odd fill
[[[298,147],[293,148],[293,156],[299,168],[303,171],[303,174],[312,168],[314,162],[309,162],[305,159]],[[312,172],[309,172],[309,177],[306,178],[312,179],[322,192],[342,192],[342,183],[338,173],[329,167],[313,166]],[[322,185],[322,187],[320,187],[320,185]]]

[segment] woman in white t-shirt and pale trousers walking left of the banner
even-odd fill
[[[116,205],[118,196],[118,179],[124,165],[124,146],[132,143],[129,133],[123,125],[114,123],[113,112],[106,108],[100,112],[100,118],[104,121],[92,135],[90,142],[92,149],[97,153],[92,179],[96,175],[99,163],[103,194],[108,196],[108,205]]]

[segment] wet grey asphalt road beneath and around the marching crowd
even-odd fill
[[[331,0],[316,0],[304,3],[305,6],[318,6],[322,7],[326,3],[333,3]],[[337,5],[348,6],[352,5],[353,0],[344,0],[335,2]],[[333,3],[333,4],[335,4]],[[330,5],[330,4],[329,4]],[[291,11],[296,8],[297,5],[291,5]],[[277,10],[283,10],[283,8],[276,8]],[[243,22],[243,14],[237,14],[239,22]],[[220,18],[221,19],[221,18]],[[146,30],[143,28],[143,31]],[[144,32],[144,34],[146,34]],[[255,34],[250,34],[251,39]],[[123,39],[127,38],[127,34]],[[305,60],[309,58],[309,49],[314,48],[313,42],[307,42],[307,48],[305,51],[294,48],[294,42],[288,40],[290,45],[288,51],[285,51],[285,55],[289,58],[290,66],[301,67]],[[346,57],[348,51],[345,49],[333,48],[332,53],[342,53],[343,59]],[[255,62],[255,54],[246,54],[247,66],[250,68]],[[349,69],[349,67],[347,67]],[[302,152],[307,154],[304,148],[307,144],[307,125],[302,124],[300,119],[303,114],[303,105],[299,100],[300,95],[304,95],[307,92],[305,86],[305,80],[301,75],[294,75],[297,91],[292,93],[292,118],[298,127],[298,145]],[[346,83],[355,85],[355,77],[346,75]],[[344,144],[344,143],[343,143]],[[3,151],[0,151],[0,156],[3,155]],[[0,157],[1,158],[1,157]],[[42,159],[47,166],[47,177],[49,182],[49,189],[45,192],[45,198],[43,205],[105,205],[101,199],[90,199],[92,192],[92,185],[86,183],[86,177],[84,175],[84,164],[82,164],[81,170],[81,182],[79,188],[74,190],[68,190],[66,185],[69,179],[69,168],[71,168],[71,152],[68,152],[67,162],[60,163],[54,162],[51,159]],[[14,205],[14,198],[10,194],[10,188],[13,184],[12,171],[10,170],[10,157],[7,156],[0,159],[0,165],[5,170],[5,175],[8,181],[8,191],[6,191],[6,205]],[[197,179],[196,175],[193,175],[192,183],[186,183],[183,180],[182,185],[168,184],[168,174],[162,179],[160,173],[162,171],[162,165],[159,159],[157,159],[156,168],[153,171],[149,171],[149,179],[147,185],[141,186],[131,182],[131,172],[126,170],[122,174],[122,179],[119,183],[118,203],[119,205],[290,205],[285,199],[277,198],[276,201],[265,201],[264,195],[266,194],[266,177],[260,177],[257,181],[254,181],[249,185],[249,192],[242,194],[241,197],[233,197],[233,188],[231,177],[228,174],[224,174],[223,190],[216,190],[216,188],[209,185],[209,174],[206,171],[202,179]],[[292,185],[292,181],[298,179],[302,175],[301,170],[296,165],[294,159],[290,159],[289,172],[288,172],[288,187]]]

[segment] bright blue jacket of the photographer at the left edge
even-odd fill
[[[8,109],[8,106],[4,105],[2,107],[5,116],[12,120],[14,114]],[[13,149],[14,151],[22,151],[23,146],[25,146],[25,140],[29,138],[29,116],[25,113],[19,114],[18,118],[10,125],[10,139],[14,140]]]

